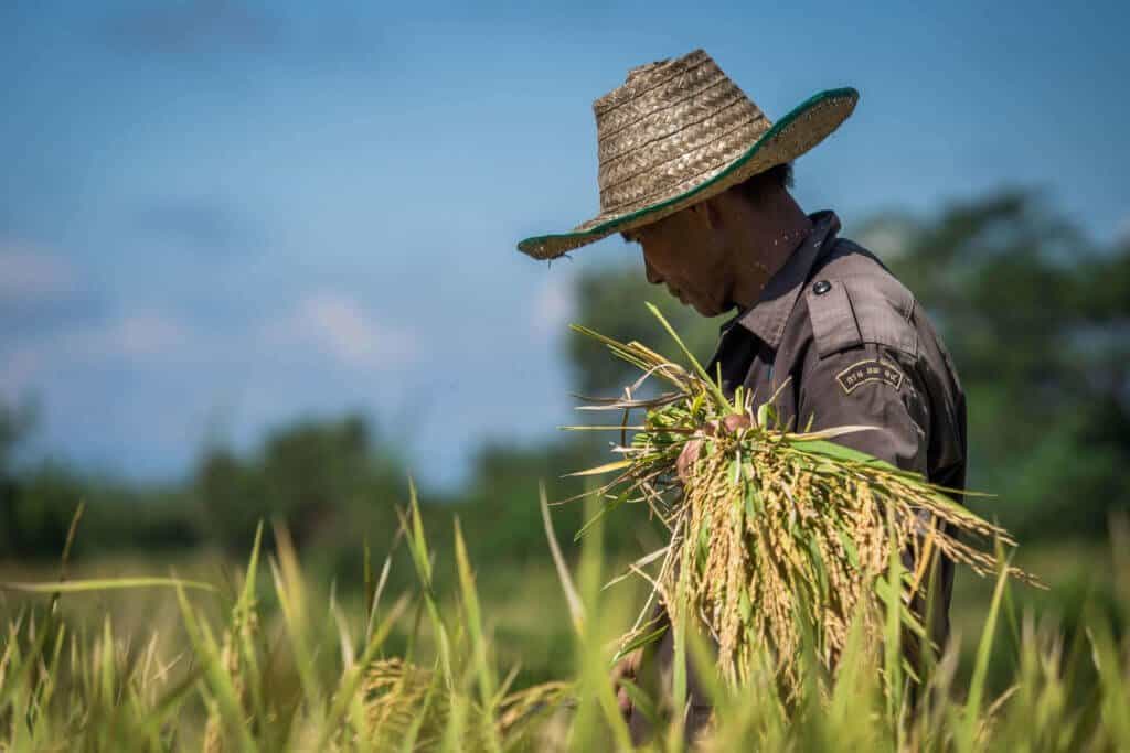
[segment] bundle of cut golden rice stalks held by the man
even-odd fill
[[[705,629],[728,683],[749,681],[767,651],[788,694],[802,678],[801,649],[815,648],[819,664],[833,668],[857,621],[866,645],[876,649],[892,627],[928,639],[911,605],[938,555],[986,575],[998,567],[986,551],[992,541],[1016,545],[1006,531],[919,474],[831,441],[870,427],[792,432],[776,426],[772,400],[755,406],[740,387],[729,400],[658,309],[649,308],[690,368],[638,342],[573,327],[643,371],[624,397],[589,399],[582,406],[623,411],[619,426],[567,427],[620,432],[614,452],[621,459],[574,475],[616,473],[597,492],[608,500],[601,514],[645,502],[670,535],[667,546],[632,566],[651,583],[652,598],[621,654],[657,638],[647,616],[659,598],[676,625],[692,620]],[[649,377],[672,389],[637,399]],[[646,411],[642,424],[629,424],[633,410]],[[677,461],[690,441],[701,449],[680,479]],[[902,569],[904,553],[912,554],[913,571]],[[1009,572],[1032,580],[1015,568]]]

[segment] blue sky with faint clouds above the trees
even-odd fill
[[[915,5],[7,0],[0,396],[136,478],[357,409],[458,482],[566,422],[572,275],[633,253],[514,251],[594,213],[591,100],[699,46],[771,117],[860,90],[797,164],[849,234],[1003,185],[1130,233],[1125,5]]]

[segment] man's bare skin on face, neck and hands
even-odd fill
[[[808,236],[812,222],[788,189],[765,183],[756,192],[730,189],[661,220],[621,234],[643,247],[647,281],[666,284],[672,296],[703,316],[754,306],[770,279]],[[707,432],[740,431],[745,415],[727,417]],[[698,456],[701,440],[688,441],[676,467],[679,476]],[[620,711],[632,701],[620,678],[634,680],[643,656],[637,649],[612,668]]]

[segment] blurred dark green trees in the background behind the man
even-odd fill
[[[1109,520],[1130,506],[1130,240],[1097,246],[1029,191],[954,203],[925,219],[887,213],[849,222],[844,235],[884,259],[928,309],[968,396],[970,487],[998,494],[979,509],[1017,533],[1032,567],[1057,585],[1033,598],[1076,612],[1102,589],[1080,573],[1102,569]],[[642,306],[657,301],[703,359],[722,323],[647,284],[641,263],[585,268],[575,299],[576,322],[662,348],[667,336]],[[577,393],[615,393],[635,378],[580,335],[562,332],[560,343]],[[107,558],[134,572],[185,558],[223,563],[242,558],[257,523],[269,519],[286,524],[324,583],[349,592],[363,577],[366,546],[375,561],[389,551],[395,506],[407,499],[397,427],[358,415],[280,426],[247,454],[202,447],[186,479],[160,485],[21,462],[34,431],[31,406],[0,406],[0,576],[55,577],[81,500],[77,571],[99,570]],[[467,484],[423,497],[429,525],[444,532],[437,543],[451,515],[460,517],[497,629],[542,657],[523,659],[534,675],[553,672],[551,637],[567,630],[538,483],[546,480],[550,499],[580,493],[580,481],[560,476],[603,457],[606,439],[562,432],[544,444],[485,445]],[[581,524],[580,504],[555,510],[564,543]],[[638,557],[653,541],[640,511],[612,516],[606,531],[614,559]],[[393,568],[398,577],[409,579],[410,568]],[[974,612],[976,603],[970,597],[955,608]]]

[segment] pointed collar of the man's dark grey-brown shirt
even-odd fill
[[[737,324],[756,334],[773,350],[781,344],[784,325],[808,282],[812,265],[823,255],[827,242],[840,231],[840,218],[835,212],[816,212],[809,214],[809,219],[812,220],[811,233],[792,252],[784,266],[770,278],[757,303],[736,317]]]

